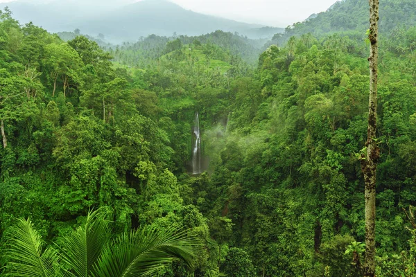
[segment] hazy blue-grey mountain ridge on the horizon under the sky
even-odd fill
[[[53,33],[72,31],[76,28],[83,33],[105,35],[113,43],[137,41],[139,37],[151,34],[171,36],[202,35],[215,30],[237,32],[252,39],[271,38],[284,28],[246,24],[221,17],[202,15],[186,10],[167,0],[144,0],[124,4],[119,8],[97,6],[96,12],[83,8],[83,1],[52,1],[48,4],[14,1],[0,4],[9,6],[14,17],[27,23],[42,26]]]

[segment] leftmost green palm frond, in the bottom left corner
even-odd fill
[[[58,268],[58,253],[51,247],[42,253],[44,242],[33,228],[31,220],[19,219],[9,232],[6,257],[7,276],[18,277],[59,277],[63,276]]]

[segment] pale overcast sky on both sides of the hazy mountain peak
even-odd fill
[[[139,0],[143,1],[143,0]],[[122,6],[139,2],[137,0],[0,0],[0,3],[48,4],[61,7],[72,16],[96,15]],[[159,0],[152,0],[159,1]],[[171,0],[186,10],[205,15],[225,17],[250,24],[286,27],[297,21],[304,21],[313,13],[327,10],[334,0]]]

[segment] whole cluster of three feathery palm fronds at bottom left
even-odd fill
[[[190,267],[200,242],[189,231],[137,229],[110,240],[102,210],[64,238],[63,247],[46,247],[31,220],[10,231],[8,276],[150,276],[176,258]]]

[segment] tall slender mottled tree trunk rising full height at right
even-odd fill
[[[376,142],[377,127],[377,62],[379,35],[379,0],[370,2],[370,98],[368,101],[367,157],[361,159],[365,181],[365,261],[364,276],[375,276],[376,170],[380,149]]]

